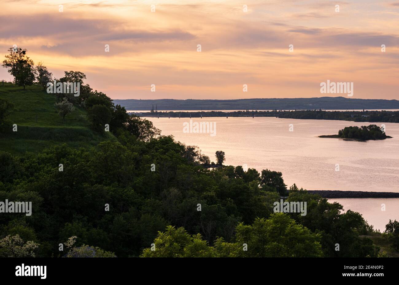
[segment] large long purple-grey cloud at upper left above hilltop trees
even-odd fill
[[[145,49],[147,44],[155,49],[161,45],[168,49],[170,45],[176,47],[178,42],[196,38],[192,33],[176,28],[139,29],[129,27],[119,19],[69,18],[62,14],[8,15],[2,18],[2,22],[0,39],[9,42],[8,46],[21,45],[23,38],[30,43],[30,49],[35,49],[34,42],[42,51],[73,56],[104,55],[105,44],[113,46],[115,55],[128,51],[127,45],[130,45],[130,51]]]

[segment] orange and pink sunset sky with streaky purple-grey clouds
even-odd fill
[[[62,1],[0,0],[0,57],[16,44],[112,99],[346,97],[330,80],[399,100],[395,0]]]

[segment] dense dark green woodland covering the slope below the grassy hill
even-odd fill
[[[293,186],[287,201],[307,201],[307,215],[273,214],[280,173],[208,170],[187,148],[172,137],[144,142],[121,135],[92,149],[0,152],[0,201],[33,204],[31,216],[0,215],[0,238],[18,234],[39,244],[36,256],[63,256],[59,244],[71,236],[78,252],[100,248],[119,257],[168,255],[148,251],[152,243],[165,246],[165,238],[174,248],[164,251],[176,256],[377,255],[371,240],[359,237],[366,224],[358,213],[342,214],[338,203]],[[169,225],[184,230],[175,236]]]

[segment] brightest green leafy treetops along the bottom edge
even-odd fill
[[[168,226],[159,232],[142,257],[322,257],[320,235],[297,224],[284,213],[269,219],[257,218],[252,225],[235,228],[236,242],[217,238],[209,246],[200,234],[190,235],[183,227]],[[244,248],[246,250],[244,250]]]

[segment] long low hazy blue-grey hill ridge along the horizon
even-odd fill
[[[352,99],[345,97],[320,98],[271,98],[271,99],[237,99],[237,100],[114,100],[126,110],[151,110],[157,106],[158,111],[170,110],[295,110],[295,109],[399,109],[398,100]]]

